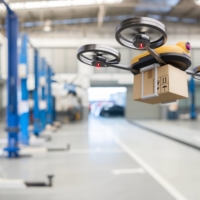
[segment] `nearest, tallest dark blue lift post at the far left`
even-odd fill
[[[18,81],[18,58],[17,58],[17,39],[18,39],[18,18],[10,7],[0,0],[7,9],[6,17],[6,33],[8,39],[8,104],[7,104],[7,128],[8,144],[4,149],[8,152],[8,157],[19,156],[18,133],[19,133],[19,117],[18,117],[18,101],[17,101],[17,81]]]

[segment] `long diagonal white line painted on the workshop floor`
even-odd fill
[[[110,133],[110,132],[109,132]],[[108,134],[109,134],[108,133]],[[110,133],[112,134],[112,133]],[[114,141],[141,167],[150,174],[160,185],[165,188],[176,200],[188,200],[180,192],[178,192],[170,183],[168,183],[162,176],[154,171],[147,163],[145,163],[137,154],[135,154],[128,146],[126,146],[118,137],[112,134]]]

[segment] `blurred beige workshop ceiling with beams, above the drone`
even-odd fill
[[[34,0],[34,2],[36,1],[44,2]],[[16,5],[19,2],[33,2],[33,0],[10,0],[9,5],[11,6],[13,3]],[[15,12],[19,17],[21,30],[30,33],[44,32],[44,26],[50,26],[51,30],[48,32],[51,33],[65,32],[69,29],[76,30],[76,32],[77,30],[81,32],[98,30],[99,33],[106,30],[109,33],[109,29],[113,30],[119,21],[132,16],[149,16],[165,21],[165,23],[188,24],[188,26],[198,27],[200,22],[200,6],[197,6],[193,0],[122,0],[121,3],[64,7],[55,5],[51,8],[16,9]],[[5,15],[6,12],[0,10],[2,29],[5,24]]]

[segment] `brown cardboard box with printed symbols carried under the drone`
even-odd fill
[[[142,74],[134,77],[133,99],[149,104],[173,102],[188,98],[187,74],[172,65],[164,65],[157,68],[158,71],[158,95],[150,99],[141,98]],[[144,72],[144,95],[154,93],[154,71],[151,69]]]

